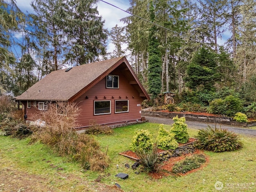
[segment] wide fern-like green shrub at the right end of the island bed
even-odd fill
[[[238,135],[226,129],[208,126],[205,130],[199,130],[196,138],[197,148],[213,152],[234,151],[243,147],[242,142],[238,141]]]

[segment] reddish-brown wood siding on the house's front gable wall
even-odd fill
[[[81,110],[78,120],[80,127],[88,126],[90,121],[94,121],[97,124],[119,124],[126,121],[140,121],[141,107],[137,106],[137,104],[141,105],[143,99],[139,96],[139,92],[130,85],[129,81],[120,71],[114,70],[110,74],[119,76],[118,89],[106,88],[106,78],[103,78],[76,100]],[[88,99],[86,99],[86,96]],[[111,100],[111,114],[94,115],[94,100]],[[129,100],[129,112],[115,113],[115,100]]]

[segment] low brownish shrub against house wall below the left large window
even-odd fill
[[[113,129],[109,126],[101,126],[97,124],[95,120],[90,120],[90,125],[86,129],[86,134],[98,135],[98,134],[113,134]]]

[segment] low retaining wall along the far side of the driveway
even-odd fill
[[[183,113],[175,113],[175,112],[168,113],[168,112],[146,111],[146,110],[142,110],[142,115],[156,116],[156,117],[163,117],[163,118],[174,118],[178,115],[179,118],[185,117],[186,120],[188,121],[218,123],[218,124],[226,124],[226,125],[233,125],[233,126],[240,126],[240,127],[256,126],[256,121],[242,123],[242,122],[233,121],[233,118],[231,117],[205,116],[205,115],[183,114]]]

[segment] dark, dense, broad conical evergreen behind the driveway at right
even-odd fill
[[[218,80],[216,54],[206,48],[200,48],[187,68],[186,85],[192,90],[203,86],[205,90],[214,90]]]

